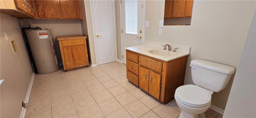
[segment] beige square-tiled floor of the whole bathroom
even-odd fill
[[[36,74],[26,118],[177,118],[175,100],[162,104],[126,79],[126,65],[111,62]],[[209,109],[206,118],[222,118]]]

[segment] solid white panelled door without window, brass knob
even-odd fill
[[[98,64],[116,61],[113,0],[92,0]]]

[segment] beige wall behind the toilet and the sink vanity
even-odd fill
[[[194,0],[191,25],[164,26],[159,36],[159,20],[164,20],[164,0],[147,0],[149,27],[145,40],[191,46],[184,84],[193,84],[188,66],[191,60],[209,60],[237,68],[255,4],[255,0]],[[214,106],[225,109],[233,79],[234,75],[224,90],[213,94]]]

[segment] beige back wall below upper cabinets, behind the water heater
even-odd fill
[[[20,22],[21,19],[18,19]],[[52,32],[52,37],[54,38],[55,50],[58,56],[59,64],[62,63],[61,54],[60,54],[60,46],[56,36],[65,36],[65,35],[81,35],[81,20],[67,20],[67,19],[26,19],[30,20],[33,24],[40,25],[38,27],[45,29],[42,26],[50,29]],[[22,20],[23,25],[22,28],[28,28],[28,21]],[[35,25],[31,25],[31,27],[36,27]]]

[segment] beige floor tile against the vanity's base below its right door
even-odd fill
[[[139,99],[143,104],[145,104],[148,108],[153,109],[161,102],[159,100],[156,100],[154,97],[147,95]]]

